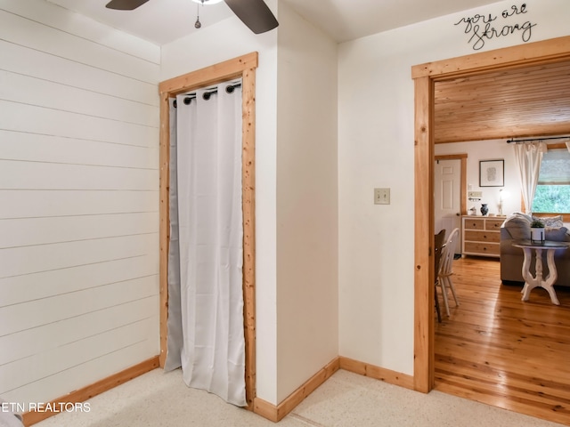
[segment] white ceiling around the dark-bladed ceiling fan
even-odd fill
[[[109,0],[47,0],[154,44],[167,44],[196,30],[199,5],[191,0],[150,0],[134,11],[111,11]],[[278,0],[344,42],[422,20],[476,8],[496,0]],[[268,2],[270,4],[270,2]],[[199,7],[202,27],[233,16],[224,2]],[[479,11],[484,13],[484,11]]]

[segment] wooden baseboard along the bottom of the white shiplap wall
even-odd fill
[[[107,378],[103,378],[97,383],[87,385],[82,389],[71,391],[68,395],[50,402],[49,407],[61,407],[59,404],[84,402],[87,399],[91,399],[94,396],[101,394],[103,391],[108,391],[122,383],[126,383],[127,381],[136,378],[139,375],[146,374],[147,372],[150,372],[157,367],[159,367],[159,356],[145,360],[137,365],[134,365],[134,367],[128,367],[124,371],[118,372],[115,375],[110,375]],[[39,423],[40,421],[43,421],[46,418],[57,414],[57,412],[50,411],[30,411],[23,415],[23,422],[24,425],[29,426],[35,423]]]

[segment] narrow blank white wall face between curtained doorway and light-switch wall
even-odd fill
[[[337,44],[279,6],[277,373],[281,402],[338,356]]]

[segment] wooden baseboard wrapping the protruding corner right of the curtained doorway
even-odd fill
[[[340,368],[339,358],[330,361],[327,366],[323,367],[319,372],[313,375],[296,391],[289,394],[287,399],[283,400],[279,405],[275,406],[264,399],[254,399],[253,412],[267,418],[273,423],[281,421],[285,415],[288,415],[299,403],[301,403],[309,394],[315,391],[322,383],[330,378]]]

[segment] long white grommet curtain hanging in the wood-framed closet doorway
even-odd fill
[[[246,406],[239,83],[171,108],[166,368]]]

